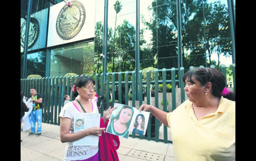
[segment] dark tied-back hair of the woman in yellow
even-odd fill
[[[183,76],[183,82],[187,80],[190,83],[195,83],[192,77],[197,80],[201,86],[205,85],[207,82],[211,82],[212,95],[216,97],[221,97],[221,93],[226,85],[225,76],[214,68],[201,68],[194,67],[187,71]],[[235,101],[235,94],[230,92],[228,95],[223,96],[231,101]]]

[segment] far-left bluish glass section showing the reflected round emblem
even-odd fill
[[[23,46],[26,29],[28,0],[21,0],[21,78],[23,69]],[[26,75],[46,74],[46,33],[49,0],[33,0],[31,7],[31,22],[28,40],[28,55]]]

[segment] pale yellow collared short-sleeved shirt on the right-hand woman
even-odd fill
[[[198,121],[189,100],[167,114],[176,161],[235,160],[235,102],[221,96],[216,112]]]

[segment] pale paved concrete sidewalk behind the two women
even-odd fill
[[[37,127],[37,125],[36,125]],[[163,129],[161,126],[160,131]],[[23,127],[22,127],[23,128]],[[170,129],[170,128],[169,128]],[[62,160],[66,143],[60,140],[60,126],[42,123],[42,135],[28,136],[30,130],[21,131],[21,161]],[[170,133],[168,133],[168,138]],[[120,161],[174,161],[173,144],[146,139],[120,138],[117,150]]]

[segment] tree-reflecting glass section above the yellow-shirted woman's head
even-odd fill
[[[181,14],[185,69],[200,65],[215,65],[218,68],[220,64],[232,64],[232,41],[226,0],[182,0]]]

